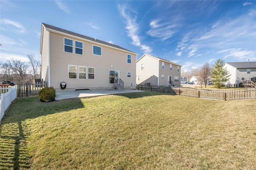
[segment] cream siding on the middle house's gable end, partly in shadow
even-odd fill
[[[141,64],[144,64],[144,70],[141,69]],[[138,80],[140,76],[140,80]],[[136,83],[158,85],[158,59],[154,59],[148,55],[142,57],[136,63]]]

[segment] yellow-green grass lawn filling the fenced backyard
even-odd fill
[[[142,92],[41,103],[19,98],[0,169],[256,169],[256,100]]]

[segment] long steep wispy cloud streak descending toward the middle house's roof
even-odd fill
[[[128,36],[132,38],[132,44],[140,47],[144,53],[150,53],[152,49],[147,46],[143,45],[140,42],[140,36],[138,35],[139,26],[136,23],[136,16],[132,17],[131,14],[126,13],[127,6],[125,5],[118,5],[118,10],[121,16],[125,19],[126,29],[128,30]]]

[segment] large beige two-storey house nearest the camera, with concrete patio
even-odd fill
[[[135,89],[138,54],[118,45],[42,23],[40,53],[42,79],[56,91],[62,82],[68,91],[114,89],[122,81]]]

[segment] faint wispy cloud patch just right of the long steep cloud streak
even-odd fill
[[[150,30],[147,34],[160,38],[162,41],[171,38],[176,32],[179,25],[174,22],[161,22],[159,19],[150,22]]]

